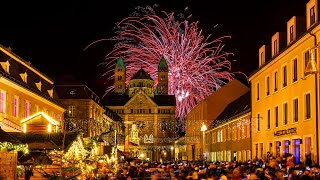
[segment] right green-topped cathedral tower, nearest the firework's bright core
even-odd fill
[[[167,62],[162,57],[158,65],[158,94],[168,94],[168,72]]]

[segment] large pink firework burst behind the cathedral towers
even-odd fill
[[[163,18],[155,14],[128,17],[118,24],[116,36],[92,44],[103,40],[118,42],[106,55],[105,75],[112,74],[116,60],[122,56],[127,79],[142,67],[155,85],[158,63],[164,57],[169,66],[169,94],[176,96],[176,117],[184,119],[200,101],[234,78],[228,60],[232,53],[222,50],[223,40],[229,36],[210,40],[211,36],[202,35],[198,22],[177,22],[174,13],[163,14]],[[112,90],[109,87],[106,93]]]

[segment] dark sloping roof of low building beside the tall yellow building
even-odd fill
[[[210,128],[218,127],[228,121],[231,121],[251,110],[251,92],[247,92],[238,99],[231,102],[223,112],[212,122]]]

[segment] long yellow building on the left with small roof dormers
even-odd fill
[[[65,108],[45,74],[0,45],[0,126],[6,132],[61,130]]]

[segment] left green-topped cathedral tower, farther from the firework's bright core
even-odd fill
[[[119,94],[126,92],[126,66],[121,56],[114,69],[114,92]]]

